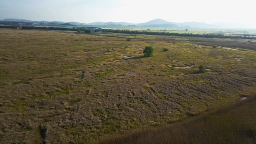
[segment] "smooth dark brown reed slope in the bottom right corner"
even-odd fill
[[[255,144],[256,97],[163,128],[135,130],[100,144]]]

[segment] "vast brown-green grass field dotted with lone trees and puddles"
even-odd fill
[[[152,57],[143,57],[146,46]],[[238,102],[256,91],[255,47],[239,39],[1,29],[0,143],[96,142]]]

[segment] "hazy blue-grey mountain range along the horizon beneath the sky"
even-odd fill
[[[4,23],[5,22],[5,23]],[[8,18],[0,20],[3,24],[21,24],[25,25],[60,25],[60,26],[139,26],[139,27],[159,27],[159,28],[250,28],[243,24],[236,23],[214,23],[207,24],[204,22],[168,22],[162,19],[150,20],[145,23],[132,24],[128,22],[92,22],[92,23],[79,23],[79,22],[59,22],[59,21],[32,21],[24,19]]]

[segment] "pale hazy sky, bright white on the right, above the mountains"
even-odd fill
[[[0,19],[63,22],[240,22],[256,27],[256,0],[0,0]]]

